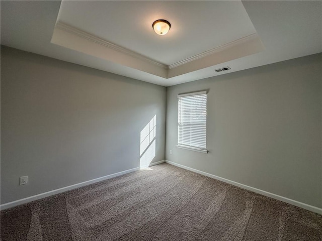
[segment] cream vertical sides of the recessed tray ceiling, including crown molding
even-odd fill
[[[259,35],[254,33],[168,66],[62,22],[56,23],[51,43],[165,79],[245,57],[264,49]]]

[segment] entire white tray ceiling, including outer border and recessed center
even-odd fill
[[[1,44],[163,86],[322,52],[320,1],[0,4]]]

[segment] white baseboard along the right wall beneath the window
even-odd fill
[[[268,196],[268,197],[277,199],[279,201],[283,201],[283,202],[292,204],[292,205],[297,206],[297,207],[301,207],[301,208],[307,209],[307,210],[312,211],[312,212],[316,212],[318,214],[322,214],[322,208],[319,208],[319,207],[314,207],[314,206],[311,206],[311,205],[306,204],[306,203],[302,203],[302,202],[299,202],[299,201],[295,201],[295,200],[289,199],[287,197],[283,197],[283,196],[280,196],[280,195],[277,195],[277,194],[274,194],[274,193],[270,193],[270,192],[267,192],[267,191],[263,191],[261,189],[255,188],[255,187],[250,187],[250,186],[247,186],[247,185],[238,183],[238,182],[234,182],[234,181],[228,180],[226,178],[218,177],[218,176],[215,176],[213,174],[210,174],[210,173],[207,173],[207,172],[203,172],[203,171],[199,171],[197,169],[194,169],[194,168],[191,168],[191,167],[187,167],[187,166],[184,166],[184,165],[175,163],[175,162],[171,162],[171,161],[166,160],[166,163],[169,163],[169,164],[174,165],[174,166],[177,166],[177,167],[181,167],[183,169],[187,169],[187,170],[192,171],[192,172],[199,173],[199,174],[204,175],[204,176],[207,176],[207,177],[211,177],[213,179],[216,179],[216,180],[219,180],[219,181],[222,181],[222,182],[225,182],[225,183],[228,183],[228,184],[237,186],[237,187],[244,188],[244,189],[249,190],[249,191],[252,191],[252,192],[256,192],[256,193],[262,194],[264,196]]]

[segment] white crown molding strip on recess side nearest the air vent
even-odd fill
[[[231,47],[233,47],[235,45],[239,45],[241,43],[248,42],[248,41],[253,40],[253,39],[256,39],[258,37],[259,37],[258,34],[257,33],[254,33],[254,34],[248,35],[246,37],[243,37],[243,38],[234,40],[234,41],[229,42],[227,44],[223,44],[223,45],[218,46],[216,48],[207,50],[207,51],[205,51],[203,53],[197,54],[197,55],[192,56],[190,58],[187,58],[187,59],[181,60],[181,61],[179,61],[177,63],[171,64],[171,65],[169,65],[169,69],[173,69],[173,68],[176,68],[176,67],[178,67],[180,65],[184,65],[184,64],[187,64],[189,62],[192,62],[194,60],[201,59],[201,58],[204,58],[206,56],[209,56],[209,55],[212,55],[212,54],[221,52],[221,51],[226,50],[226,49],[229,49],[229,48],[231,48]]]

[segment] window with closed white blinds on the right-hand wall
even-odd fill
[[[178,99],[177,147],[207,153],[207,92],[179,94]]]

